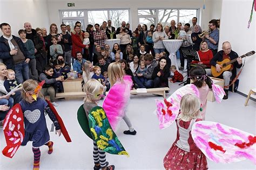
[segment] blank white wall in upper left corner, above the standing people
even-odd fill
[[[47,3],[46,0],[0,0],[0,23],[10,24],[16,36],[18,30],[24,29],[25,22],[30,22],[33,29],[49,28]]]

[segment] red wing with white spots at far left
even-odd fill
[[[21,105],[15,104],[14,107],[8,112],[4,119],[4,137],[6,146],[2,153],[6,157],[12,158],[18,150],[19,146],[24,139],[24,118]]]

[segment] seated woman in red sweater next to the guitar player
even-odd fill
[[[200,57],[200,61],[192,61],[191,63],[199,63],[201,65],[206,65],[207,68],[211,68],[210,61],[213,58],[213,53],[210,49],[208,49],[208,44],[206,41],[201,42],[198,55]]]

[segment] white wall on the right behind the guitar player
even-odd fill
[[[220,24],[219,44],[230,41],[233,51],[238,55],[255,51],[255,22],[256,12],[253,11],[253,20],[247,29],[252,8],[251,0],[223,0]],[[219,50],[221,45],[219,45]],[[244,60],[243,60],[244,61]],[[256,88],[256,55],[246,57],[244,69],[239,76],[238,91],[248,94],[250,89]],[[255,98],[255,96],[253,96]],[[244,101],[242,101],[244,102]]]

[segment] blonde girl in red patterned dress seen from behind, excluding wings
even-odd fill
[[[185,95],[181,98],[180,114],[176,119],[177,138],[165,155],[165,169],[208,169],[205,155],[191,136],[192,125],[201,121],[200,103],[196,95]]]

